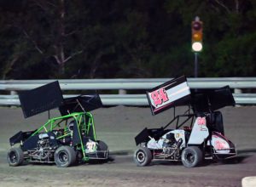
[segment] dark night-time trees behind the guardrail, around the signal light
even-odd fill
[[[190,24],[201,17],[201,77],[253,76],[253,0],[0,1],[3,79],[193,76]]]

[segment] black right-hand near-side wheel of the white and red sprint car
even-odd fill
[[[196,167],[201,164],[202,157],[202,151],[198,147],[187,147],[182,153],[183,166]]]

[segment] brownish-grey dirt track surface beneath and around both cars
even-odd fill
[[[256,107],[222,111],[225,135],[239,150],[235,161],[206,161],[195,168],[183,167],[180,162],[154,161],[148,167],[136,167],[132,161],[134,137],[144,127],[164,126],[171,120],[172,111],[151,116],[148,108],[118,106],[93,111],[97,138],[108,143],[113,161],[59,168],[38,164],[9,167],[9,137],[40,127],[48,115],[24,119],[20,108],[0,108],[0,186],[241,186],[241,178],[256,176]]]

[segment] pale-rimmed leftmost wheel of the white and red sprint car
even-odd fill
[[[140,147],[134,152],[133,158],[138,167],[144,167],[152,161],[152,153],[148,147]]]

